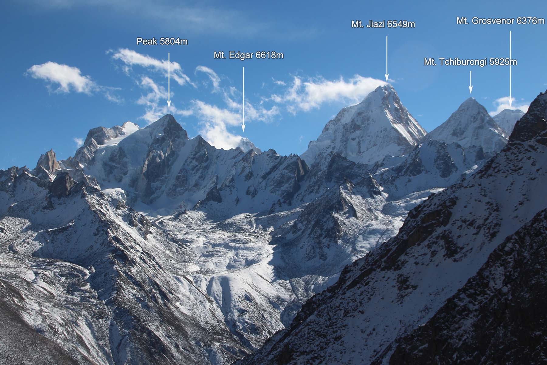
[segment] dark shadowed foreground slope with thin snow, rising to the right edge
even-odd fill
[[[547,92],[241,364],[544,363]]]

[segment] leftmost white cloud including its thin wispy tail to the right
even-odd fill
[[[98,85],[90,76],[84,76],[78,67],[49,61],[33,65],[25,74],[34,79],[44,80],[50,92],[77,92],[87,95],[101,92],[109,101],[123,102],[123,99],[115,94],[118,88]]]

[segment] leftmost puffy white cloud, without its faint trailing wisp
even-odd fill
[[[80,69],[56,62],[45,62],[27,69],[26,74],[35,79],[42,79],[50,85],[59,85],[55,92],[83,92],[90,95],[97,85],[89,76],[83,76]]]

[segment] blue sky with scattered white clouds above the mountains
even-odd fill
[[[342,107],[388,72],[401,101],[430,131],[473,94],[488,111],[507,104],[509,67],[423,66],[424,57],[512,55],[513,107],[547,88],[547,25],[456,25],[456,16],[547,18],[542,2],[7,1],[0,12],[0,169],[34,167],[53,148],[74,154],[95,126],[146,126],[171,110],[193,137],[228,148],[239,136],[261,149],[302,153]],[[351,20],[400,19],[415,28],[352,29]],[[181,37],[185,46],[136,45]],[[213,51],[272,50],[282,60],[215,60]],[[241,130],[245,67],[246,129]]]

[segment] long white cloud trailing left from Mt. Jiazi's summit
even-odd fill
[[[302,78],[294,76],[283,95],[271,95],[269,100],[286,104],[287,110],[294,114],[299,110],[307,112],[319,108],[325,102],[359,102],[382,85],[386,82],[359,75],[347,81],[342,77],[337,80],[316,77],[302,81]]]

